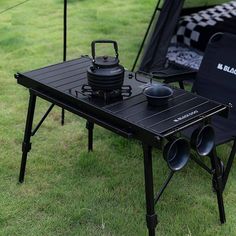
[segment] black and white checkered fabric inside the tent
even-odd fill
[[[204,51],[209,38],[217,32],[236,33],[236,1],[181,17],[171,43]]]

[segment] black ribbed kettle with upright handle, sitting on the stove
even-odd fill
[[[113,44],[115,57],[96,57],[96,44]],[[93,90],[112,91],[121,89],[124,82],[125,69],[119,64],[118,45],[113,40],[96,40],[91,43],[92,65],[87,69],[88,85]]]

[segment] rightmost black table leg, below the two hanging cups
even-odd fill
[[[220,214],[220,222],[223,224],[226,222],[224,200],[223,200],[223,180],[222,180],[222,173],[220,172],[220,167],[219,167],[220,163],[218,161],[215,148],[211,152],[210,158],[211,158],[212,169],[214,170],[213,181],[215,181],[216,183],[216,194],[217,194],[218,209]]]

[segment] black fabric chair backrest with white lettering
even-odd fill
[[[217,33],[212,36],[193,90],[223,104],[231,103],[229,123],[236,128],[236,35]]]

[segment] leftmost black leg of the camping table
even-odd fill
[[[21,159],[21,167],[20,167],[20,175],[19,175],[20,183],[24,182],[27,155],[31,149],[30,138],[31,138],[31,131],[32,131],[32,125],[33,125],[33,119],[34,119],[35,104],[36,104],[36,95],[30,92],[28,113],[27,113],[27,119],[26,119],[26,125],[25,125],[25,134],[24,134],[24,140],[22,143],[22,159]]]

